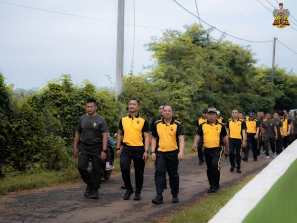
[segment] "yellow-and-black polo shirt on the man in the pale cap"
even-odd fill
[[[227,132],[223,123],[216,120],[212,125],[207,120],[199,125],[196,135],[203,137],[205,148],[216,148],[221,146],[221,139],[227,137]]]

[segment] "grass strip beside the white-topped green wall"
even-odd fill
[[[255,175],[247,176],[244,182],[238,185],[224,188],[217,193],[207,194],[204,200],[195,206],[177,212],[167,223],[207,223]]]

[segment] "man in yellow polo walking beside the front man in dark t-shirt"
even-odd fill
[[[116,155],[117,157],[121,156],[122,177],[127,188],[123,197],[125,200],[128,200],[134,192],[130,179],[132,159],[135,169],[136,191],[134,200],[136,201],[141,199],[145,162],[148,160],[149,125],[148,121],[138,113],[139,108],[139,101],[135,98],[131,99],[128,105],[129,115],[120,120],[116,142]],[[120,150],[121,142],[123,143],[122,151]]]

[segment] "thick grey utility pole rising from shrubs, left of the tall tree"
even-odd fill
[[[118,19],[117,19],[117,45],[116,45],[116,77],[115,77],[115,101],[123,92],[124,76],[124,17],[125,0],[118,0]]]

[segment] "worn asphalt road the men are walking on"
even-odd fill
[[[253,162],[242,161],[242,173],[230,172],[229,159],[222,157],[221,187],[243,179],[246,175],[258,172],[272,161],[264,155]],[[141,201],[123,200],[125,190],[120,188],[123,181],[120,174],[114,174],[109,180],[102,180],[99,200],[84,198],[86,184],[74,182],[62,186],[12,193],[0,197],[0,222],[53,222],[53,223],[131,223],[154,222],[164,220],[172,211],[179,210],[196,202],[209,188],[206,177],[206,165],[198,166],[196,154],[190,154],[180,163],[180,203],[171,203],[171,191],[163,193],[164,204],[155,205],[154,166],[145,170],[145,181]],[[134,174],[131,174],[134,184]],[[168,177],[168,176],[167,176]]]

